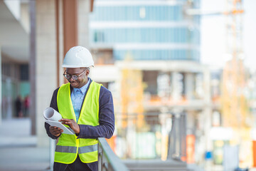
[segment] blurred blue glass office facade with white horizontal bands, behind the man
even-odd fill
[[[96,0],[90,46],[112,48],[114,60],[200,61],[199,0]]]

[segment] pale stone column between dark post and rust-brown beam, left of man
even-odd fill
[[[36,1],[36,134],[38,147],[48,147],[43,110],[57,88],[55,1]]]

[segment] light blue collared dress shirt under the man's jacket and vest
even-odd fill
[[[88,79],[88,82],[85,84],[85,86],[82,86],[81,88],[74,88],[72,93],[71,93],[71,100],[72,100],[72,105],[75,111],[75,118],[78,123],[78,118],[80,115],[80,110],[82,106],[82,100],[85,97],[85,92],[89,86],[90,79]]]

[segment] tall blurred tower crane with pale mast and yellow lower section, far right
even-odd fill
[[[245,127],[247,103],[245,99],[245,66],[242,48],[242,1],[227,0],[226,36],[227,54],[230,60],[223,68],[222,113],[223,125]]]

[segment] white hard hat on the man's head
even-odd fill
[[[92,54],[87,48],[82,46],[74,46],[65,54],[62,67],[64,68],[80,68],[94,66]]]

